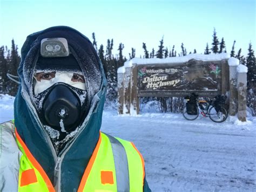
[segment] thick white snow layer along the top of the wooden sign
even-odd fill
[[[167,57],[164,59],[159,58],[150,58],[150,59],[140,59],[140,58],[133,58],[129,61],[124,63],[123,68],[118,68],[118,73],[124,73],[124,68],[132,67],[133,64],[137,65],[144,65],[144,64],[173,64],[173,63],[185,63],[191,59],[195,60],[202,60],[202,61],[218,61],[223,59],[230,58],[229,54],[227,53],[220,53],[220,54],[188,54],[184,57]]]

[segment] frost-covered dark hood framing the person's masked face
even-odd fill
[[[36,112],[36,106],[39,108],[43,107],[43,99],[39,99],[39,97],[44,98],[48,92],[45,90],[41,93],[41,95],[33,93],[33,81],[35,81],[33,74],[36,72],[36,64],[40,54],[41,40],[43,38],[55,38],[56,36],[62,36],[68,40],[70,52],[76,58],[77,63],[79,64],[85,77],[86,91],[84,91],[83,94],[78,95],[81,103],[83,104],[87,102],[88,107],[94,106],[94,104],[91,103],[91,100],[100,90],[103,79],[102,72],[100,71],[102,64],[100,63],[97,53],[91,42],[89,42],[89,40],[82,36],[79,32],[72,29],[63,32],[62,28],[58,29],[57,27],[53,30],[44,30],[28,36],[22,47],[22,61],[21,65],[19,66],[18,73],[22,81],[23,98],[30,105],[31,111],[33,112]],[[29,95],[30,98],[25,97],[26,95]],[[37,114],[34,116],[37,118]],[[82,125],[85,125],[88,118],[89,116],[86,116],[85,121],[82,122]],[[37,120],[39,119],[37,118]],[[59,139],[61,133],[49,126],[44,126],[44,128],[48,132],[52,142],[60,146],[74,138],[80,129],[77,127],[75,131],[69,133],[63,140],[60,141]],[[57,152],[58,147],[56,147],[56,145],[55,148]]]

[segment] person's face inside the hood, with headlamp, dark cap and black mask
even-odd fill
[[[57,131],[70,133],[84,121],[89,108],[86,82],[66,39],[42,39],[32,99],[42,124]]]

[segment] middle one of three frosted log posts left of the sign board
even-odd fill
[[[124,114],[130,114],[131,106],[131,67],[125,67],[124,73]]]

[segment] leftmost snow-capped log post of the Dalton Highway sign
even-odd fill
[[[119,67],[117,70],[118,114],[124,114],[124,73],[125,67]]]

